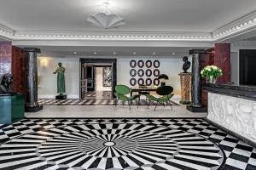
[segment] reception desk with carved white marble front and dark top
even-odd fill
[[[256,144],[256,87],[204,84],[207,119]]]

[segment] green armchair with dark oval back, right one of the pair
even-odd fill
[[[151,102],[156,102],[156,105],[154,107],[154,111],[156,110],[156,107],[158,104],[163,104],[165,106],[165,104],[169,104],[171,105],[172,108],[172,103],[170,101],[170,99],[172,99],[173,95],[173,88],[172,86],[161,86],[159,88],[156,89],[156,94],[159,94],[160,97],[156,98],[153,95],[147,94],[146,97],[148,99],[148,108],[149,105],[151,104]]]

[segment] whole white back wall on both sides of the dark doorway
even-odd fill
[[[90,58],[89,56],[80,58]],[[109,56],[101,56],[97,58],[113,58]],[[130,61],[131,59],[158,59],[160,61],[160,74],[166,74],[169,80],[166,85],[171,85],[174,88],[174,94],[180,94],[180,80],[178,73],[182,72],[183,60],[178,57],[125,57],[118,56],[117,58],[117,83],[130,85]],[[191,59],[189,58],[191,61]],[[66,68],[66,92],[67,98],[79,98],[79,57],[75,58],[55,58],[55,57],[38,57],[38,98],[55,98],[57,94],[56,75],[53,74],[55,68],[61,62]],[[48,63],[44,65],[44,63]],[[191,71],[191,69],[189,69]],[[102,72],[102,71],[98,71]],[[153,77],[152,77],[153,79]],[[102,77],[98,81],[102,81]],[[96,82],[102,84],[102,82]]]

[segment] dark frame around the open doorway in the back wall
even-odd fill
[[[80,72],[79,72],[79,98],[82,99],[82,93],[81,93],[81,65],[82,63],[108,63],[112,65],[112,98],[114,97],[114,87],[117,83],[117,76],[116,76],[116,67],[117,67],[117,59],[92,59],[92,58],[80,58],[79,59],[79,65],[80,65]]]

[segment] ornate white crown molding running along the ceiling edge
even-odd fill
[[[220,42],[254,30],[256,11],[212,32],[15,31],[0,25],[0,37],[11,41]]]

